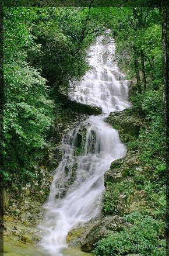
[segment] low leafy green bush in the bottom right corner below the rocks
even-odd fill
[[[94,255],[166,255],[163,222],[140,213],[125,216],[125,220],[132,226],[98,241]]]

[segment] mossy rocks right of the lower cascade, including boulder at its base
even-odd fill
[[[143,127],[141,120],[130,114],[130,109],[122,112],[112,112],[105,121],[119,131],[121,141],[127,144],[135,141]],[[92,251],[94,244],[108,234],[130,228],[122,216],[126,213],[146,207],[143,191],[138,191],[133,182],[133,176],[142,175],[146,168],[140,166],[137,150],[128,150],[122,159],[112,162],[105,172],[105,192],[103,195],[103,212],[97,219],[76,227],[69,232],[69,245],[80,246],[82,251]]]

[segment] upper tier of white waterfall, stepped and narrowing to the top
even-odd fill
[[[129,108],[128,85],[125,75],[115,63],[115,43],[110,37],[100,36],[89,48],[92,70],[78,82],[75,91],[69,93],[73,101],[99,106],[103,113]]]

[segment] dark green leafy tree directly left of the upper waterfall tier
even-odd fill
[[[96,36],[90,20],[88,8],[38,9],[31,28],[38,48],[29,49],[29,61],[47,79],[54,99],[89,70],[86,47]]]

